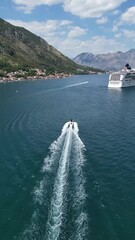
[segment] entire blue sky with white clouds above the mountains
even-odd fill
[[[135,0],[0,0],[0,17],[71,59],[135,48]]]

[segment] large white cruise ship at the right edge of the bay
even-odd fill
[[[123,88],[135,86],[135,69],[127,63],[125,68],[113,72],[109,76],[108,88]]]

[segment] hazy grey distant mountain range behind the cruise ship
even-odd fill
[[[108,54],[81,53],[76,56],[74,62],[84,65],[99,68],[105,71],[120,70],[126,63],[135,68],[135,49],[131,49],[125,53],[116,52]]]

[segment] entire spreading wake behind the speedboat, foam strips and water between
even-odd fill
[[[87,239],[85,213],[85,146],[67,122],[44,159],[43,178],[34,190],[35,211],[22,234],[25,240]]]

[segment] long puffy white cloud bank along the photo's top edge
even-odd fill
[[[99,18],[105,13],[118,8],[127,0],[12,0],[17,9],[30,13],[34,8],[41,5],[62,4],[63,9],[80,18]]]

